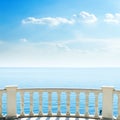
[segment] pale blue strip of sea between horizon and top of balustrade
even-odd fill
[[[1,68],[0,88],[101,88],[120,89],[120,68]]]

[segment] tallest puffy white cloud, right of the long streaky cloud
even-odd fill
[[[76,21],[84,22],[87,24],[97,22],[97,17],[94,14],[91,14],[85,11],[80,12],[80,14],[78,15],[74,14],[73,17],[76,19]]]

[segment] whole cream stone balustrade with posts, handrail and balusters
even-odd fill
[[[33,112],[33,94],[37,92],[39,94],[39,112],[38,114],[34,114]],[[45,115],[42,112],[42,94],[44,92],[48,93],[48,114]],[[57,113],[52,113],[52,93],[57,93]],[[66,93],[66,114],[61,114],[61,93]],[[75,115],[70,113],[70,94],[71,92],[76,94],[76,113]],[[8,86],[3,90],[0,90],[0,117],[2,115],[2,94],[7,94],[7,116],[13,117],[25,117],[25,116],[74,116],[74,117],[87,117],[87,118],[100,118],[98,111],[98,96],[102,93],[102,118],[110,118],[113,119],[113,95],[118,95],[118,116],[117,119],[120,119],[120,91],[115,90],[113,87],[102,87],[101,89],[69,89],[69,88],[27,88],[27,89],[18,89],[16,86]],[[16,109],[16,94],[20,94],[21,98],[21,113],[17,115]],[[30,95],[30,113],[26,115],[24,113],[24,94],[29,93]],[[85,114],[81,115],[79,112],[80,109],[80,93],[85,94]],[[95,96],[95,113],[94,115],[89,115],[89,94],[93,93]]]

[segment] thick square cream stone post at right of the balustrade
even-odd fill
[[[103,86],[103,107],[102,107],[102,118],[113,119],[113,91],[112,86]]]

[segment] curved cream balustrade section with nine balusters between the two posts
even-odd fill
[[[101,90],[95,90],[95,89],[58,89],[58,88],[49,88],[49,89],[18,89],[17,92],[20,93],[21,95],[21,114],[20,116],[25,116],[24,114],[24,93],[29,93],[30,94],[30,116],[34,116],[33,113],[33,93],[37,92],[39,93],[39,112],[38,115],[39,116],[44,116],[43,112],[42,112],[42,93],[47,92],[48,93],[48,116],[71,116],[70,114],[70,94],[73,92],[76,95],[76,113],[73,116],[79,117],[81,116],[79,113],[79,95],[80,93],[84,93],[85,94],[85,115],[84,117],[90,117],[89,116],[89,112],[88,112],[88,102],[89,102],[89,93],[94,93],[95,95],[95,114],[94,117],[98,118],[98,94],[101,93]],[[52,93],[56,92],[57,93],[57,108],[58,111],[56,114],[52,114]],[[67,96],[67,100],[66,100],[66,114],[62,115],[61,114],[61,110],[60,110],[60,103],[61,103],[61,93],[64,92]],[[83,115],[82,115],[83,116]]]

